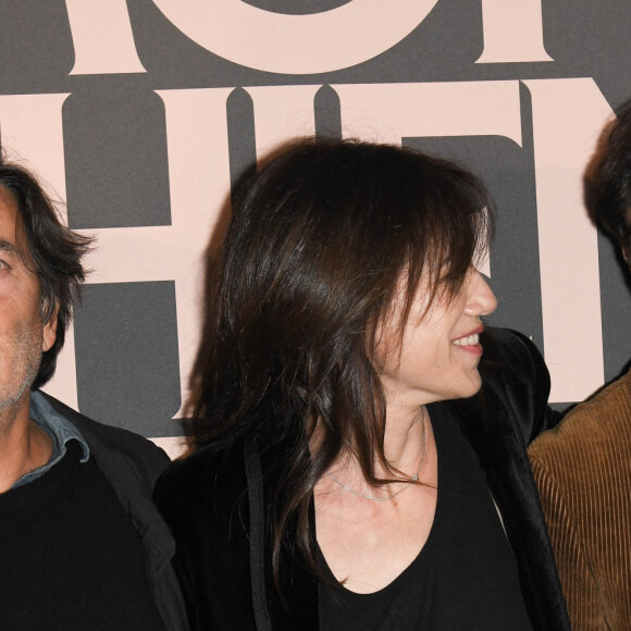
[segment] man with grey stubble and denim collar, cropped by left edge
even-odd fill
[[[0,164],[0,627],[183,631],[174,543],[151,503],[166,455],[38,389],[89,246],[28,171]]]

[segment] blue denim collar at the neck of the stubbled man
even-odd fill
[[[52,454],[46,465],[25,473],[13,483],[11,488],[28,484],[54,467],[65,456],[65,445],[69,441],[78,441],[83,450],[82,462],[86,462],[90,457],[90,448],[81,432],[37,391],[30,393],[30,418],[52,438]]]

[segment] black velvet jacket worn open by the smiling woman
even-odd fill
[[[533,628],[569,631],[525,450],[558,421],[547,407],[549,375],[529,339],[492,331],[484,341],[479,395],[433,406],[448,406],[480,457],[518,559]],[[177,541],[175,568],[193,629],[319,630],[318,584],[304,561],[286,558],[281,566],[288,609],[272,580],[265,498],[282,460],[282,445],[246,437],[200,449],[160,479],[156,497]]]

